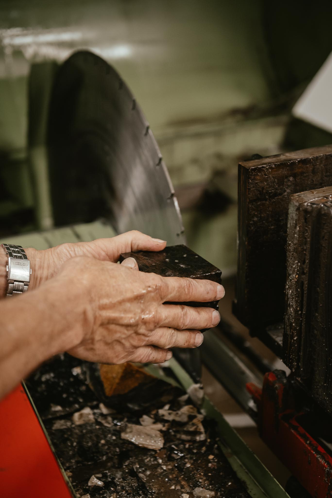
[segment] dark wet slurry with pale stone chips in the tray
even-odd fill
[[[88,364],[61,355],[27,381],[78,495],[249,498],[218,446],[214,422],[185,392],[166,383],[160,388],[156,380],[157,390],[152,385],[148,389],[150,399],[145,392],[140,403],[137,388],[136,402],[128,393],[114,402],[110,398],[105,406],[105,398],[90,387],[92,375]],[[123,439],[128,433],[131,440]],[[157,441],[160,449],[132,440],[147,446]]]

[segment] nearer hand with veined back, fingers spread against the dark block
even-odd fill
[[[220,321],[212,308],[163,304],[220,299],[222,285],[210,280],[161,277],[89,257],[68,260],[55,280],[79,289],[82,332],[68,352],[86,361],[162,363],[169,348],[200,346],[199,330]]]

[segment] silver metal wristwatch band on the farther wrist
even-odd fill
[[[1,248],[8,256],[7,296],[22,294],[28,290],[30,282],[30,261],[21,246],[1,244]]]

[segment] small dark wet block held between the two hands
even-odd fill
[[[136,259],[140,271],[157,273],[163,277],[188,277],[198,280],[213,280],[214,282],[221,283],[221,270],[183,245],[169,246],[158,252],[126,252],[121,254],[120,262],[128,257]],[[177,304],[218,309],[218,301]]]

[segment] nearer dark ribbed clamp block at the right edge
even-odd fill
[[[332,187],[291,196],[283,360],[332,414]]]

